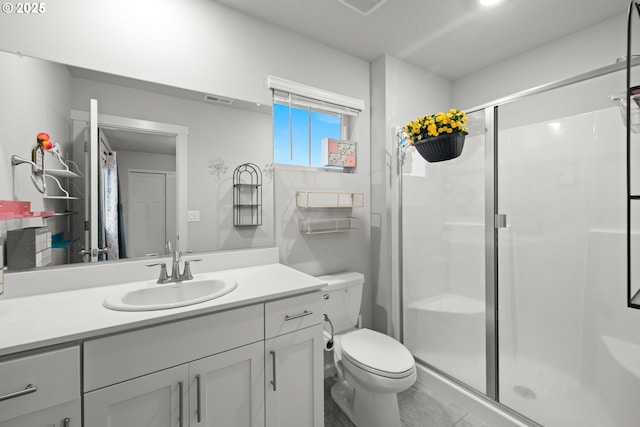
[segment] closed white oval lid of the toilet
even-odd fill
[[[370,329],[345,334],[340,340],[340,347],[343,356],[351,363],[385,377],[405,377],[415,367],[413,356],[405,346]]]

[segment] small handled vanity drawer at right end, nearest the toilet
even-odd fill
[[[265,338],[322,323],[322,293],[312,292],[264,305]]]

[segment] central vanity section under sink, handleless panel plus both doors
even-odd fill
[[[263,313],[259,304],[85,342],[84,426],[262,427]]]

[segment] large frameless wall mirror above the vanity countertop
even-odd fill
[[[193,252],[274,245],[270,106],[1,51],[0,69],[0,200],[55,212],[0,218],[6,258],[13,257],[9,271],[89,262],[91,249],[99,250],[93,261],[111,262],[162,256],[167,242]],[[39,159],[45,175],[68,167],[77,176],[34,182],[29,163],[12,164],[12,156],[34,160],[40,132],[56,148]],[[92,155],[99,162],[95,182]],[[233,171],[245,163],[263,175],[262,225],[234,227]],[[52,234],[51,260],[17,263],[29,254],[18,256],[9,244],[34,227]],[[92,227],[98,238],[88,248]]]

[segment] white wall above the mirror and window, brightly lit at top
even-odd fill
[[[47,6],[29,19],[3,15],[0,49],[263,104],[269,74],[361,99],[368,92],[368,63],[215,1]]]

